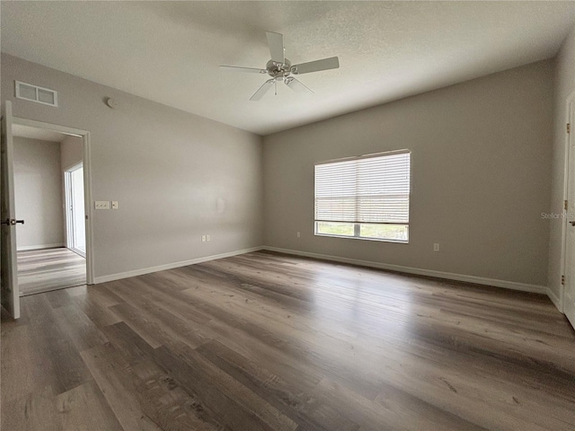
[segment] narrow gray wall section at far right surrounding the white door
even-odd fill
[[[555,103],[553,128],[553,185],[549,212],[562,214],[565,159],[565,124],[567,98],[575,92],[575,28],[563,42],[555,58]],[[572,126],[571,126],[572,127]],[[571,132],[573,133],[573,132]],[[554,219],[551,224],[549,242],[549,288],[555,301],[562,296],[562,219]]]

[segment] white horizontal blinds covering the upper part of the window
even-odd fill
[[[315,165],[315,221],[409,224],[409,151]]]

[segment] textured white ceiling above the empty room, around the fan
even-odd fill
[[[260,135],[553,57],[573,2],[2,2],[2,51]],[[314,95],[265,75],[265,31]]]

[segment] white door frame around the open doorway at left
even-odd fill
[[[84,214],[86,227],[86,284],[93,285],[93,210],[92,210],[92,157],[90,152],[90,132],[78,128],[68,128],[57,124],[44,123],[34,119],[13,117],[12,124],[43,128],[65,135],[82,138],[82,163],[84,163]]]

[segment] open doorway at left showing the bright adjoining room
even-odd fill
[[[13,125],[20,295],[86,284],[82,146],[79,136]]]

